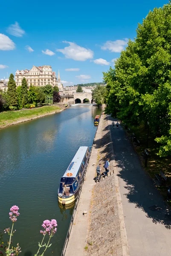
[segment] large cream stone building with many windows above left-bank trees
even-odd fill
[[[34,86],[45,86],[46,84],[58,85],[56,73],[52,71],[51,66],[41,66],[35,67],[33,65],[31,70],[17,70],[15,72],[15,82],[16,85],[21,85],[22,79],[26,78],[27,85],[31,84]]]

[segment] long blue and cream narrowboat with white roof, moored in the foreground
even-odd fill
[[[67,171],[61,177],[60,186],[58,188],[58,202],[60,204],[71,204],[77,198],[89,158],[89,148],[85,146],[79,147]]]

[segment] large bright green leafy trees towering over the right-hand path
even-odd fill
[[[104,73],[107,113],[132,125],[147,125],[159,155],[171,155],[171,1],[138,24],[115,67]]]

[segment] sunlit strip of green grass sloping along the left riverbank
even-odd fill
[[[41,116],[47,113],[60,111],[61,109],[56,106],[43,106],[41,108],[24,109],[20,111],[6,111],[0,113],[0,127],[9,125],[21,120]]]

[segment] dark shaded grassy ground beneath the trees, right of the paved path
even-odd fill
[[[167,176],[166,186],[157,186],[164,198],[167,198],[167,186],[171,186],[171,157],[159,157],[157,153],[159,152],[159,143],[155,142],[154,134],[151,133],[149,129],[149,140],[148,140],[148,152],[150,157],[148,158],[147,167],[145,167],[145,160],[142,159],[142,151],[147,147],[147,128],[143,125],[137,127],[130,127],[130,132],[128,133],[130,138],[132,133],[135,134],[136,138],[140,141],[139,147],[135,145],[135,149],[141,157],[142,165],[146,172],[155,180],[155,174],[159,174],[162,171]],[[131,139],[132,140],[132,139]]]

